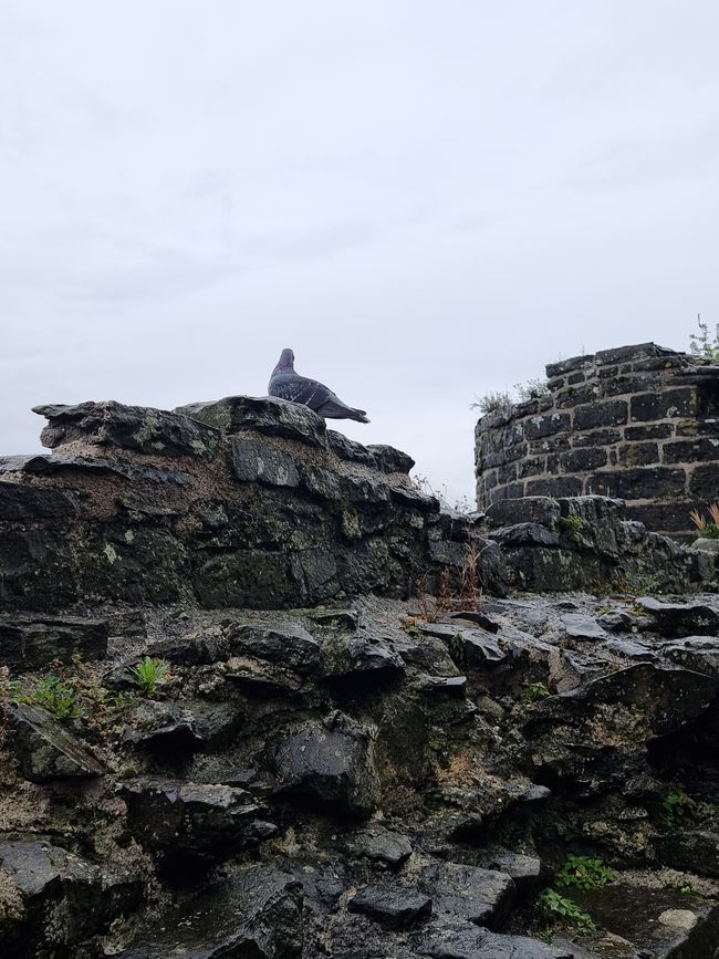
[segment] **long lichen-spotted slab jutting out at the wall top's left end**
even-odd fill
[[[220,446],[217,430],[178,413],[146,406],[107,400],[35,406],[33,413],[49,420],[40,438],[51,449],[80,440],[137,452],[208,458]]]

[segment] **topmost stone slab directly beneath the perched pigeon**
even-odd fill
[[[254,430],[267,436],[283,436],[308,446],[327,446],[327,429],[321,416],[308,406],[274,396],[227,396],[212,403],[178,406],[175,411],[221,432]]]

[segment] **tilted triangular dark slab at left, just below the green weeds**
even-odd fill
[[[45,709],[10,707],[13,750],[22,775],[31,782],[103,775],[105,767]]]

